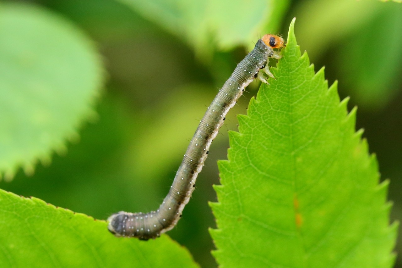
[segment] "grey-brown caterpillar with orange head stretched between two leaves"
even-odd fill
[[[172,229],[189,202],[195,188],[195,180],[207,158],[209,146],[216,137],[228,111],[236,104],[245,87],[258,78],[267,83],[265,75],[273,77],[269,71],[268,59],[279,59],[279,52],[273,48],[285,46],[285,41],[276,35],[264,35],[252,51],[237,65],[234,72],[219,89],[209,105],[186,150],[183,161],[168,195],[156,211],[131,213],[120,211],[109,217],[108,229],[116,236],[138,237],[141,240],[159,237]]]

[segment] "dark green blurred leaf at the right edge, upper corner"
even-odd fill
[[[347,57],[337,60],[349,92],[365,107],[384,107],[401,90],[402,5],[383,5],[353,41],[341,47]]]

